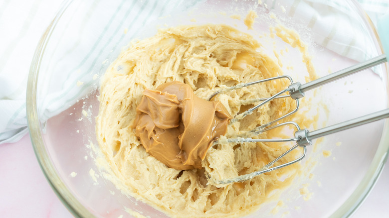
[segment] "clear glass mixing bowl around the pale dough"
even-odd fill
[[[144,216],[167,217],[123,195],[101,176],[94,163],[93,149],[98,149],[94,117],[98,114],[99,79],[132,39],[152,36],[158,28],[166,26],[209,22],[230,24],[254,37],[269,36],[269,26],[276,24],[269,18],[274,13],[280,22],[296,29],[309,44],[319,76],[383,53],[374,25],[355,1],[342,1],[337,6],[348,18],[346,23],[340,23],[342,28],[363,33],[357,37],[357,42],[363,43],[351,41],[353,52],[346,56],[336,53],[337,44],[331,45],[330,36],[335,35],[336,30],[332,29],[326,35],[328,27],[315,25],[321,18],[339,14],[323,10],[328,5],[311,0],[301,2],[316,11],[316,15],[306,16],[296,11],[295,3],[289,5],[287,1],[275,0],[262,0],[260,5],[258,1],[250,0],[182,0],[175,3],[65,0],[37,46],[28,78],[26,105],[36,157],[51,187],[68,210],[75,217],[131,217],[126,210]],[[249,31],[242,20],[229,15],[241,14],[243,19],[250,8],[259,17],[254,30]],[[328,19],[328,22],[337,24],[339,20]],[[272,57],[274,46],[285,46],[279,41],[275,45],[262,43],[269,47]],[[293,48],[290,50],[292,52]],[[285,73],[301,81],[299,72],[306,68],[297,64],[301,58],[296,54],[285,54],[286,60],[296,63],[293,69],[285,69]],[[324,86],[316,98],[326,103],[326,124],[330,125],[385,109],[388,90],[388,65],[380,65]],[[306,98],[309,97],[312,94],[307,94]],[[287,190],[281,196],[285,205],[279,208],[279,213],[270,213],[276,203],[269,203],[268,207],[262,207],[248,217],[352,215],[373,188],[386,162],[388,123],[388,120],[381,120],[335,133],[325,137],[323,145],[315,149],[309,147],[308,156],[316,154],[318,162],[312,171],[313,179],[303,178],[296,187]],[[340,143],[341,146],[337,146]],[[317,155],[322,150],[330,150],[332,156]],[[298,194],[299,185],[304,183],[311,183],[308,188],[314,193],[309,201],[304,201]]]

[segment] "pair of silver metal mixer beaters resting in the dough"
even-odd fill
[[[345,121],[345,122],[342,122],[339,124],[324,127],[322,129],[314,130],[311,132],[308,131],[308,129],[301,129],[300,126],[296,122],[293,122],[293,121],[277,123],[281,119],[284,119],[287,116],[290,116],[291,114],[295,113],[299,109],[299,99],[304,97],[304,93],[306,91],[315,89],[319,86],[333,82],[335,80],[349,76],[351,74],[360,72],[362,70],[377,66],[379,64],[385,63],[386,61],[387,61],[386,55],[383,54],[383,55],[377,56],[375,58],[372,58],[370,60],[367,60],[365,62],[361,62],[359,64],[353,65],[353,66],[348,67],[346,69],[343,69],[343,70],[340,70],[338,72],[327,75],[325,77],[319,78],[317,80],[308,82],[306,84],[301,84],[299,82],[294,83],[291,77],[289,77],[287,75],[283,75],[283,76],[268,78],[268,79],[264,79],[264,80],[260,80],[260,81],[251,82],[251,83],[238,84],[236,86],[229,87],[229,88],[226,88],[223,90],[219,90],[219,91],[213,93],[210,96],[209,101],[218,94],[225,93],[225,92],[228,92],[228,91],[231,91],[234,89],[240,89],[243,87],[252,86],[254,84],[264,83],[264,82],[268,82],[268,81],[272,81],[272,80],[288,79],[290,81],[291,85],[287,89],[278,92],[277,94],[275,94],[274,96],[272,96],[270,98],[259,99],[258,101],[261,102],[260,104],[236,115],[233,119],[230,120],[230,124],[234,123],[237,120],[242,119],[246,115],[252,113],[255,109],[258,109],[259,107],[269,103],[270,101],[272,101],[274,99],[292,98],[296,101],[296,108],[295,109],[293,109],[291,112],[284,114],[284,115],[282,115],[282,116],[280,116],[280,117],[278,117],[278,118],[276,118],[268,123],[265,123],[265,124],[262,124],[262,125],[256,127],[255,129],[249,131],[248,134],[256,135],[256,134],[259,134],[261,132],[265,132],[265,131],[268,131],[268,130],[271,130],[274,128],[278,128],[281,126],[285,126],[285,125],[291,125],[297,129],[297,131],[294,133],[294,137],[292,137],[292,138],[282,138],[282,139],[253,139],[253,138],[244,138],[244,137],[227,138],[226,141],[224,141],[224,142],[227,142],[227,143],[245,143],[245,142],[293,142],[293,141],[295,141],[296,144],[294,146],[292,146],[290,149],[288,149],[286,152],[281,154],[279,157],[275,158],[273,161],[271,161],[270,163],[268,163],[267,165],[262,167],[258,171],[255,171],[255,172],[249,173],[249,174],[245,174],[245,175],[241,175],[241,176],[238,176],[235,178],[229,178],[229,179],[223,179],[223,180],[213,180],[213,182],[216,184],[228,184],[228,183],[235,183],[235,182],[243,182],[243,181],[249,180],[255,176],[258,176],[262,173],[267,173],[267,172],[270,172],[272,170],[276,170],[276,169],[279,169],[282,167],[289,166],[291,164],[294,164],[294,163],[302,160],[305,157],[305,155],[307,153],[306,146],[311,145],[312,144],[311,141],[313,139],[316,139],[316,138],[319,138],[322,136],[326,136],[326,135],[329,135],[329,134],[332,134],[335,132],[339,132],[339,131],[342,131],[345,129],[349,129],[349,128],[352,128],[355,126],[363,125],[363,124],[366,124],[369,122],[373,122],[373,121],[376,121],[379,119],[389,117],[389,109],[384,109],[384,110],[374,112],[374,113],[371,113],[371,114],[368,114],[368,115],[365,115],[365,116],[362,116],[359,118],[355,118],[355,119]],[[286,94],[286,93],[288,93],[288,94]],[[218,144],[218,143],[221,143],[221,142],[215,141],[214,145]],[[287,155],[292,150],[294,150],[298,147],[303,148],[303,153],[300,157],[298,157],[290,162],[287,162],[287,163],[284,163],[281,165],[277,165],[277,166],[273,166],[282,157],[284,157],[285,155]],[[209,178],[209,179],[211,179],[211,178]]]

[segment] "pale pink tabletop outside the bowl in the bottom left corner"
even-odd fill
[[[29,135],[0,145],[0,217],[72,217],[44,177]]]

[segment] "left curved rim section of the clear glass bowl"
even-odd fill
[[[68,8],[73,0],[64,0],[59,6],[56,15],[49,23],[46,30],[43,32],[38,45],[35,49],[32,57],[28,79],[27,79],[27,91],[26,91],[26,115],[27,125],[32,142],[32,147],[39,166],[46,177],[47,182],[53,189],[62,204],[67,210],[77,218],[81,217],[94,217],[68,190],[65,183],[60,179],[55,167],[50,161],[50,157],[43,143],[41,123],[38,117],[38,110],[36,104],[36,91],[37,82],[39,76],[39,68],[44,54],[44,50],[47,46],[47,42],[50,39],[52,32],[55,29],[56,24],[61,18],[62,14]]]

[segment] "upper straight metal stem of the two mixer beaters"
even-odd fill
[[[358,73],[365,69],[377,66],[379,64],[385,63],[387,61],[386,55],[382,54],[367,61],[355,64],[343,70],[337,71],[325,77],[321,77],[317,80],[308,82],[306,84],[300,85],[300,92],[305,93],[306,91],[315,89],[319,86],[325,85],[327,83],[333,82],[335,80],[341,79],[343,77],[349,76],[354,73]]]

